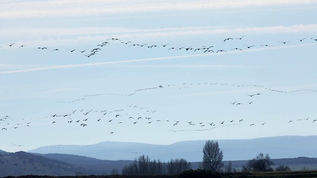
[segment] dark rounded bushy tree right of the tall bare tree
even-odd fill
[[[274,165],[271,161],[271,158],[266,153],[265,156],[263,153],[259,153],[256,158],[249,160],[243,167],[243,171],[261,171],[261,172],[270,172],[273,169],[270,167]]]

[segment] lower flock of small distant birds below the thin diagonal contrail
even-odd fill
[[[274,91],[274,92],[280,92],[280,93],[292,93],[292,92],[299,92],[299,91],[313,91],[317,92],[317,90],[314,89],[300,89],[300,90],[292,90],[292,91],[282,91],[282,90],[276,90],[276,89],[269,89],[264,86],[260,85],[230,85],[230,84],[224,84],[224,83],[182,83],[178,85],[159,85],[158,87],[153,88],[145,88],[145,89],[136,89],[132,94],[135,94],[137,92],[145,91],[145,90],[152,90],[152,89],[164,89],[168,87],[174,87],[178,89],[188,89],[190,87],[194,86],[227,86],[227,87],[252,87],[252,88],[262,88],[267,91]],[[228,101],[228,105],[251,105],[254,104],[255,98],[263,95],[264,93],[246,93],[246,97],[249,98],[249,101]],[[87,97],[93,97],[93,96],[101,96],[101,95],[121,95],[121,96],[130,96],[131,94],[118,94],[118,93],[99,93],[99,94],[92,94],[92,95],[85,95],[85,98],[81,99],[75,99],[73,101],[69,102],[63,102],[58,101],[62,103],[72,103],[75,101],[84,100]],[[53,119],[51,123],[47,122],[45,124],[77,124],[79,127],[89,127],[91,125],[91,122],[104,122],[104,123],[115,123],[115,124],[123,124],[123,123],[130,123],[131,125],[138,125],[140,123],[145,124],[155,124],[155,123],[170,123],[170,126],[177,127],[179,125],[187,126],[187,127],[195,127],[195,129],[188,129],[188,130],[169,130],[172,132],[184,132],[184,131],[208,131],[216,128],[222,128],[222,127],[229,127],[229,126],[235,126],[235,125],[241,125],[246,124],[243,119],[237,119],[237,120],[213,120],[210,122],[197,122],[197,121],[181,121],[181,120],[175,120],[175,119],[159,119],[155,116],[157,110],[151,110],[146,109],[145,107],[139,107],[136,105],[127,105],[126,108],[116,109],[116,110],[85,110],[85,109],[78,109],[78,110],[72,110],[68,113],[63,114],[57,114],[54,113],[52,115],[48,115],[46,117],[37,118],[43,121],[43,119]],[[131,114],[134,113],[134,114]],[[7,131],[8,129],[18,129],[19,127],[31,127],[32,126],[32,118],[30,119],[23,119],[23,122],[16,123],[16,120],[11,118],[11,116],[3,116],[0,118],[0,126],[2,126],[1,131]],[[317,123],[317,120],[312,120],[310,118],[307,119],[298,119],[295,121],[311,121],[312,123]],[[292,122],[295,122],[290,120],[288,123],[291,124]],[[256,123],[249,123],[250,127],[254,127],[258,124]],[[261,123],[260,126],[265,125],[265,123]],[[36,126],[36,125],[35,125]],[[109,132],[108,134],[115,134],[115,132]]]

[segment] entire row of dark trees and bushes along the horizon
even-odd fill
[[[223,153],[219,148],[217,141],[207,140],[203,147],[203,162],[202,168],[209,170],[211,173],[225,172],[231,173],[236,172],[235,168],[232,168],[231,161],[228,165],[222,162]],[[249,160],[242,168],[242,171],[259,171],[269,172],[274,171],[271,167],[274,163],[271,161],[268,154],[264,156],[263,153],[259,153],[256,158]],[[133,163],[125,166],[122,169],[124,175],[173,175],[180,174],[183,171],[190,170],[191,163],[185,159],[171,159],[167,163],[161,162],[160,160],[150,160],[149,156],[142,155],[139,158],[135,158]],[[288,166],[279,166],[275,171],[291,171]],[[117,174],[118,170],[112,170],[112,174]]]

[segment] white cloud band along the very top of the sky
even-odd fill
[[[248,6],[284,6],[316,3],[316,0],[54,0],[1,2],[0,18],[64,17],[131,14],[158,11],[212,10]]]

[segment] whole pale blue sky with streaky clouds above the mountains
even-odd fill
[[[0,149],[316,135],[316,10],[2,0]]]

